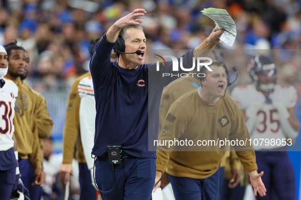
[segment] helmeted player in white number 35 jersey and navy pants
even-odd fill
[[[232,98],[242,110],[256,150],[266,196],[271,191],[279,199],[295,199],[293,166],[286,145],[297,137],[299,123],[294,114],[297,95],[293,86],[277,84],[277,67],[267,56],[256,55],[248,63],[253,84],[233,89]]]

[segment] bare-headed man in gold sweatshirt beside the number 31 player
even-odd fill
[[[13,123],[18,142],[20,173],[31,198],[40,199],[45,174],[42,169],[39,138],[50,136],[53,121],[46,108],[46,99],[24,80],[30,62],[28,53],[23,47],[17,46],[16,41],[7,44],[5,48],[9,57],[6,78],[19,88]]]

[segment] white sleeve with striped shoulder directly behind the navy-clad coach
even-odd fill
[[[80,96],[79,106],[79,126],[80,126],[80,139],[83,145],[85,158],[87,161],[88,169],[92,169],[94,159],[91,157],[91,151],[94,146],[95,135],[95,118],[96,106],[92,77],[82,79],[78,84],[78,93]]]

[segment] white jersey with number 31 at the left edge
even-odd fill
[[[11,80],[3,79],[5,84],[0,88],[0,151],[6,151],[14,146],[13,134],[15,102],[18,96],[18,86]]]

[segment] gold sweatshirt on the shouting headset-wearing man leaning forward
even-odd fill
[[[240,109],[229,95],[221,97],[216,105],[208,105],[200,97],[198,90],[184,94],[172,104],[158,141],[187,139],[196,144],[197,140],[217,141],[218,138],[243,141],[250,139]],[[197,146],[192,148],[196,150]],[[207,148],[209,151],[172,151],[158,145],[157,170],[166,170],[168,174],[177,177],[210,177],[220,168],[226,153],[224,149],[216,151],[216,148],[210,148]],[[250,151],[236,151],[245,173],[257,170],[253,147],[249,145],[247,149]]]

